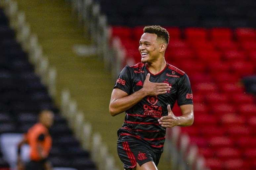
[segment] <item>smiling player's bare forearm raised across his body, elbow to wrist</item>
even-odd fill
[[[123,98],[119,99],[114,99],[110,104],[109,104],[109,112],[112,116],[115,116],[119,113],[122,113],[135,104],[137,104],[140,100],[145,98],[147,96],[146,92],[141,89],[129,96],[125,96]]]

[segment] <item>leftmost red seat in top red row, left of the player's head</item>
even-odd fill
[[[112,26],[111,34],[111,37],[118,36],[120,39],[131,39],[132,31],[129,27]]]

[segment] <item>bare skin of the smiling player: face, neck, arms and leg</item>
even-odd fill
[[[153,74],[160,72],[166,66],[164,59],[164,52],[167,47],[167,42],[157,38],[155,34],[144,33],[140,40],[139,51],[142,55],[142,63],[146,63],[149,71]],[[150,74],[146,76],[143,88],[131,95],[115,88],[112,91],[109,103],[109,113],[112,116],[118,115],[135,104],[146,96],[157,96],[170,91],[171,86],[166,83],[153,83],[149,81]],[[174,126],[191,126],[194,121],[193,105],[187,104],[180,106],[182,116],[175,116],[170,108],[167,106],[168,115],[161,117],[158,122],[162,127]],[[137,166],[133,170],[157,170],[153,161],[144,163],[142,166]]]

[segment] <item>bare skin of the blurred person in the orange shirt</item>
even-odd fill
[[[53,112],[48,111],[48,110],[44,110],[39,115],[39,122],[41,124],[43,124],[45,127],[50,128],[53,125],[53,117],[54,117]],[[27,143],[26,138],[23,138],[21,140],[21,142],[18,144],[18,148],[21,148],[21,146],[26,144],[26,143]],[[37,150],[38,150],[39,156],[42,159],[47,157],[46,155],[44,155],[43,149],[40,146],[37,147]],[[51,164],[49,162],[45,162],[44,166],[45,166],[45,170],[51,170],[52,169]],[[24,164],[21,161],[21,156],[20,155],[18,155],[17,169],[18,170],[24,170],[25,169]]]

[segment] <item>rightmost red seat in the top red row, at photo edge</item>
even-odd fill
[[[253,28],[236,28],[235,35],[239,41],[248,41],[256,39],[256,32]]]

